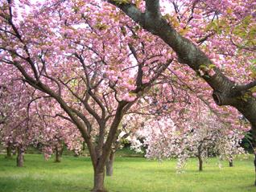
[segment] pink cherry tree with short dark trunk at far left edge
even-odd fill
[[[1,142],[6,146],[7,156],[17,148],[17,165],[23,166],[23,154],[28,145],[36,143],[39,137],[35,112],[29,112],[33,89],[26,88],[17,76],[1,76]]]

